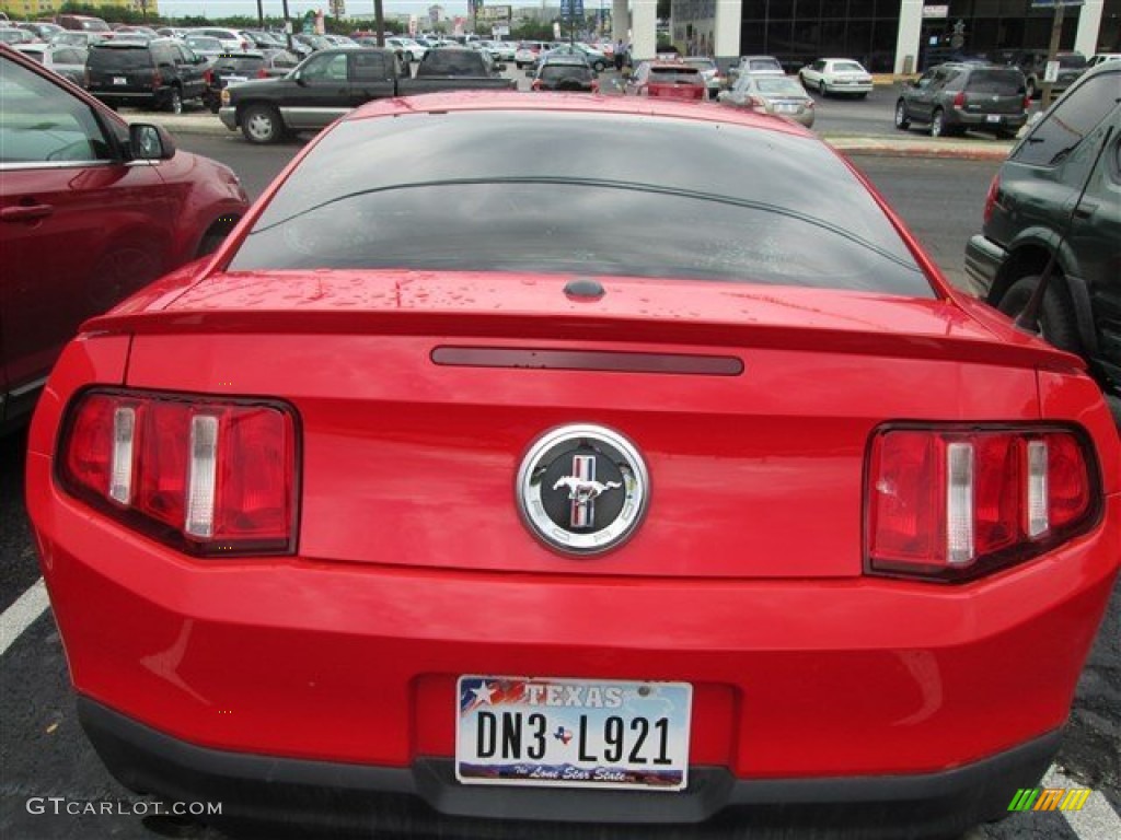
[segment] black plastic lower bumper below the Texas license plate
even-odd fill
[[[110,772],[166,801],[221,803],[215,823],[289,827],[302,836],[441,838],[954,837],[999,819],[1020,787],[1035,787],[1059,745],[1049,732],[941,773],[908,776],[739,780],[691,767],[684,793],[465,786],[447,758],[409,768],[226,753],[177,740],[87,698],[78,716]],[[585,824],[582,824],[585,823]],[[298,827],[298,829],[297,829]]]

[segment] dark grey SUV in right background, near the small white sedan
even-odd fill
[[[1023,74],[1016,67],[942,64],[904,84],[896,128],[905,131],[920,122],[930,127],[930,137],[978,129],[1009,138],[1023,128],[1030,106]]]

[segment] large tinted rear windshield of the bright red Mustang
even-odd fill
[[[637,114],[343,121],[280,186],[230,270],[363,268],[934,297],[883,211],[821,141]]]

